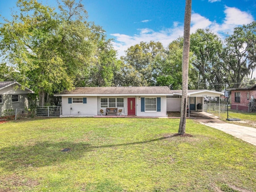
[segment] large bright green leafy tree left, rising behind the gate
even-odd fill
[[[18,0],[17,7],[19,13],[1,24],[0,49],[20,72],[23,84],[38,93],[40,105],[46,94],[72,89],[88,78],[91,64],[101,65],[114,55],[101,27],[86,21],[81,1],[63,0],[59,13],[36,0]],[[110,84],[106,77],[102,76]]]

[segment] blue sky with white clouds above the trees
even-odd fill
[[[38,0],[57,6],[56,0]],[[160,41],[167,47],[183,36],[185,0],[82,0],[88,20],[106,30],[114,38],[119,56],[128,47]],[[10,18],[16,0],[0,0],[0,14]],[[236,26],[256,19],[256,0],[192,0],[191,32],[210,28],[224,39]]]

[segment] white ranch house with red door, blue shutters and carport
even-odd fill
[[[125,116],[166,117],[167,112],[178,112],[182,90],[167,86],[152,87],[78,87],[54,94],[62,97],[62,116],[97,116],[100,110],[106,115],[109,108],[122,109]],[[204,103],[204,97],[221,96],[222,92],[188,90],[190,110]]]

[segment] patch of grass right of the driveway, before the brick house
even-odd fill
[[[213,113],[216,116],[219,116],[219,113]],[[228,123],[250,126],[256,128],[256,113],[246,113],[246,112],[236,112],[236,110],[228,110],[228,118],[238,118],[241,121],[227,121],[227,112],[220,113],[220,120],[226,121]]]

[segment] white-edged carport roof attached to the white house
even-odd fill
[[[172,90],[174,95],[182,95],[182,90]],[[201,90],[188,90],[188,96],[198,96],[199,94],[203,94],[201,97],[204,97],[205,95],[207,97],[210,96],[217,96],[217,95],[224,95],[223,92],[218,92],[218,91],[211,91],[211,90],[205,90],[205,89],[201,89]]]

